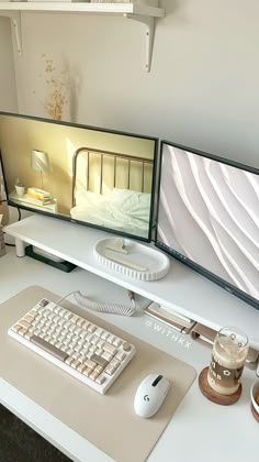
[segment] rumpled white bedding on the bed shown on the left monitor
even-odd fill
[[[70,213],[75,220],[147,238],[150,194],[119,188],[105,195],[78,191]]]

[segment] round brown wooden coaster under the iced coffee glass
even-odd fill
[[[223,405],[223,406],[229,406],[236,403],[241,395],[241,384],[239,385],[237,391],[233,393],[232,395],[221,395],[219,393],[216,393],[209,384],[207,371],[209,371],[209,367],[205,367],[202,370],[202,372],[199,375],[199,387],[202,394],[211,402]]]

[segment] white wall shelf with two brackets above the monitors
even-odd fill
[[[155,1],[155,3],[158,3]],[[90,3],[90,2],[70,2],[70,1],[1,1],[0,15],[8,16],[11,20],[18,53],[22,55],[21,42],[21,12],[60,12],[60,13],[94,13],[94,14],[120,14],[124,18],[142,22],[145,25],[146,36],[146,72],[150,70],[153,42],[155,31],[155,19],[164,18],[162,8],[149,6],[147,3]]]

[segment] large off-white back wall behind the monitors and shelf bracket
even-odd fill
[[[258,0],[162,0],[145,30],[117,16],[23,13],[19,108],[46,116],[43,54],[72,78],[75,122],[154,134],[259,167]]]

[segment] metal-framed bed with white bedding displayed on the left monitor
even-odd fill
[[[153,161],[79,147],[72,160],[71,218],[146,238]]]

